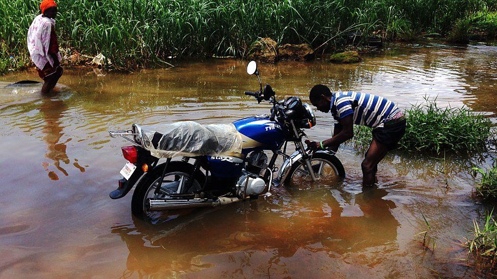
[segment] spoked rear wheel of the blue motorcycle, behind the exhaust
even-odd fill
[[[160,186],[160,192],[155,194],[158,180],[164,170],[164,164],[155,167],[152,172],[142,178],[136,185],[131,199],[131,212],[140,219],[153,218],[154,212],[148,211],[146,201],[148,198],[168,198],[170,194],[188,194],[200,190],[205,182],[205,175],[199,170],[194,174],[193,181],[190,173],[193,168],[191,164],[174,161],[168,164],[164,179]]]

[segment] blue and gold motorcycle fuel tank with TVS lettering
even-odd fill
[[[271,121],[267,116],[251,116],[233,122],[242,135],[242,152],[253,149],[278,149],[285,140],[285,132],[280,123]]]

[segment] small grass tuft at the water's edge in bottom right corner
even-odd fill
[[[473,221],[472,237],[466,239],[466,246],[476,258],[479,265],[486,265],[487,268],[497,268],[497,222],[492,216],[493,210],[488,212],[483,227],[478,222]]]

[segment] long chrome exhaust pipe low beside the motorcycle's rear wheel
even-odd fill
[[[241,201],[239,198],[221,197],[217,200],[209,199],[147,199],[146,206],[149,211],[174,210],[195,207],[215,207]]]

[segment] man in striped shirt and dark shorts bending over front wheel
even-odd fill
[[[312,87],[309,99],[319,111],[330,111],[338,121],[332,138],[307,142],[313,151],[325,147],[336,151],[340,144],[354,136],[354,124],[373,128],[373,140],[361,164],[363,186],[373,185],[378,163],[397,147],[405,133],[406,121],[402,111],[386,98],[353,91],[331,92],[322,84]]]

